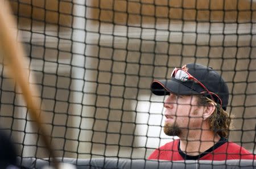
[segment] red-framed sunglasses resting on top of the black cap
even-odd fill
[[[220,100],[220,104],[222,105],[222,100],[220,99],[220,97],[217,94],[214,94],[214,92],[210,92],[203,83],[201,83],[199,80],[197,80],[195,77],[193,77],[191,74],[188,73],[187,70],[180,69],[180,68],[176,68],[174,69],[174,71],[172,71],[171,77],[174,77],[176,80],[180,81],[180,82],[187,82],[187,81],[193,81],[197,84],[199,84],[201,87],[204,88],[205,91],[201,92],[201,94],[204,94],[205,92],[207,92],[210,95],[210,98],[212,100],[215,100],[213,98],[213,95],[216,96],[218,98],[218,100]]]

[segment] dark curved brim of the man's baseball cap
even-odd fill
[[[188,83],[190,84],[190,83]],[[195,83],[193,84],[195,85]],[[177,81],[172,78],[170,81],[157,81],[151,83],[151,91],[155,95],[168,95],[170,93],[176,95],[199,95],[201,91],[189,87],[184,82]]]

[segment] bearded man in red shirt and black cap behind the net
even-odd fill
[[[256,159],[243,147],[227,140],[229,90],[211,67],[187,64],[175,68],[170,81],[154,80],[151,91],[155,95],[168,95],[164,101],[164,133],[180,139],[159,147],[148,159]]]

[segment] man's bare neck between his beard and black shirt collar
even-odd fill
[[[189,130],[180,137],[180,149],[188,155],[199,155],[220,140],[212,130]]]

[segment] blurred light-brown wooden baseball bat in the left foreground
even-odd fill
[[[42,134],[42,140],[53,159],[53,164],[58,168],[59,163],[56,160],[55,151],[51,147],[49,137],[47,137],[47,130],[42,125],[40,119],[40,103],[33,99],[32,94],[37,95],[38,91],[35,87],[30,85],[28,81],[27,60],[22,48],[18,43],[15,32],[16,28],[14,18],[11,15],[11,10],[7,1],[0,1],[0,53],[6,66],[9,70],[9,75],[14,78],[14,81],[22,91],[23,98],[27,103],[28,112]],[[37,95],[38,96],[38,95]],[[48,134],[49,136],[49,134]]]

